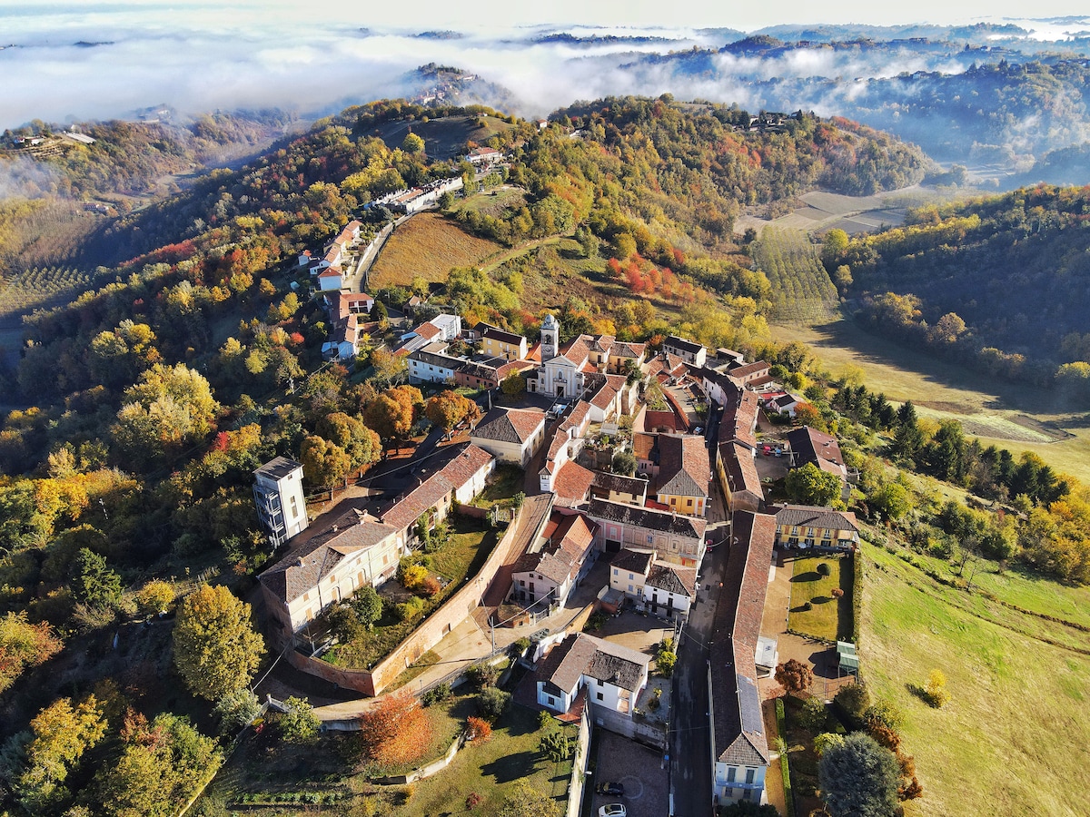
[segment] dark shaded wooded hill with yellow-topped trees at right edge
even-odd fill
[[[847,266],[873,331],[1085,398],[1088,231],[1090,188],[1039,185],[921,207],[850,241],[829,231],[823,259]]]

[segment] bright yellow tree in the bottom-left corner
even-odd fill
[[[40,814],[68,800],[69,772],[102,740],[106,728],[102,705],[94,695],[74,706],[71,698],[60,698],[38,712],[31,721],[32,737],[24,749],[26,766],[12,780],[20,804],[31,814]]]

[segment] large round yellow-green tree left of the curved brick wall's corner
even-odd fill
[[[227,587],[201,585],[178,605],[174,664],[194,694],[217,700],[245,686],[264,654],[250,605]]]

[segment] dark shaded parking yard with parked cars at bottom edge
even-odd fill
[[[604,729],[598,730],[597,766],[588,780],[589,793],[602,781],[620,783],[625,796],[591,794],[595,817],[606,803],[623,803],[628,817],[663,817],[669,812],[669,781],[662,753]]]

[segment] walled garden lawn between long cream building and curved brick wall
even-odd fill
[[[426,599],[423,615],[447,600],[464,580],[481,570],[488,553],[496,547],[496,532],[483,526],[482,520],[451,514],[450,541],[431,554],[431,570],[448,584],[433,598]],[[400,588],[400,585],[398,585]],[[382,593],[387,593],[382,590]],[[348,644],[337,644],[323,659],[338,667],[354,667],[370,669],[377,661],[390,654],[405,636],[420,623],[421,618],[399,621],[392,606],[385,605],[383,618],[378,620],[370,633],[365,633]]]

